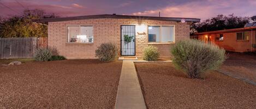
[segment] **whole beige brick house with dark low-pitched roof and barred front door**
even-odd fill
[[[190,24],[198,18],[150,17],[127,15],[92,15],[46,18],[48,46],[56,47],[68,59],[95,58],[102,43],[117,44],[120,56],[142,56],[142,50],[152,44],[160,57],[170,57],[170,46],[189,39]],[[132,38],[124,40],[124,38]]]

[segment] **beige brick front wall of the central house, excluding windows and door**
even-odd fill
[[[153,21],[153,20],[131,20],[117,18],[100,18],[91,20],[61,21],[49,22],[48,25],[48,44],[49,47],[56,47],[60,55],[68,59],[92,59],[95,57],[95,50],[100,44],[105,42],[116,43],[121,47],[121,25],[145,25],[146,34],[135,36],[136,56],[141,57],[142,50],[153,44],[158,47],[160,57],[170,57],[170,46],[173,43],[148,43],[147,25],[174,25],[175,42],[189,39],[189,23],[175,21]],[[67,42],[68,25],[92,25],[93,26],[93,43],[74,44]]]

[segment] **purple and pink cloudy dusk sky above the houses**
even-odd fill
[[[62,17],[120,14],[206,18],[218,14],[256,15],[256,0],[0,0],[0,16],[20,14],[24,9],[43,9]]]

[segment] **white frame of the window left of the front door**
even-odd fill
[[[90,44],[94,43],[94,28],[92,29],[92,35],[93,35],[93,42],[68,42],[68,27],[79,27],[79,34],[81,35],[81,27],[92,27],[93,25],[66,25],[66,43],[73,43],[73,44]]]

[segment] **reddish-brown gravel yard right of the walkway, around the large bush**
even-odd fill
[[[147,108],[256,108],[256,86],[218,72],[189,79],[172,63],[135,63]]]

